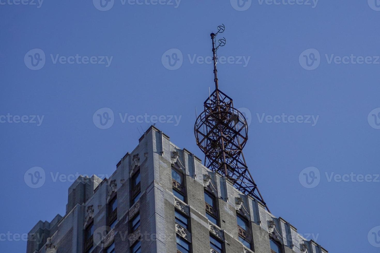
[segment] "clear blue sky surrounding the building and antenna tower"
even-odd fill
[[[250,121],[272,213],[330,252],[379,251],[380,1],[31,1],[0,0],[1,252],[25,252],[18,236],[65,214],[71,175],[111,175],[155,117],[204,158],[195,107],[222,23],[220,89]]]

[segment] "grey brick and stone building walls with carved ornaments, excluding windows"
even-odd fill
[[[173,195],[171,167],[183,171],[186,201]],[[130,177],[141,173],[141,198],[131,204]],[[204,190],[217,199],[220,226],[206,218]],[[117,195],[117,223],[107,225],[107,206]],[[174,210],[190,217],[188,231],[175,223]],[[130,220],[138,213],[140,228],[130,233]],[[239,242],[236,213],[250,222],[253,250]],[[283,253],[327,253],[312,240],[306,240],[283,218],[276,218],[251,196],[243,195],[222,175],[204,167],[194,154],[180,149],[169,137],[150,127],[139,145],[117,163],[116,171],[101,180],[80,176],[68,190],[65,216],[51,222],[38,222],[30,231],[27,253],[83,253],[84,229],[94,224],[93,253],[103,253],[115,242],[116,253],[129,253],[131,244],[141,240],[143,253],[176,253],[176,235],[191,243],[193,253],[208,253],[209,236],[224,242],[226,253],[270,253],[269,240],[282,245]],[[40,239],[41,238],[41,239]]]

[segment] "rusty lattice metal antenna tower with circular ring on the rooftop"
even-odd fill
[[[196,144],[204,152],[204,166],[225,176],[236,189],[253,196],[269,211],[248,170],[242,151],[248,140],[247,120],[233,107],[232,99],[219,90],[217,50],[225,46],[226,39],[219,39],[218,46],[215,46],[216,36],[224,30],[222,24],[218,26],[217,33],[211,33],[215,91],[204,101],[204,111],[196,119]]]

